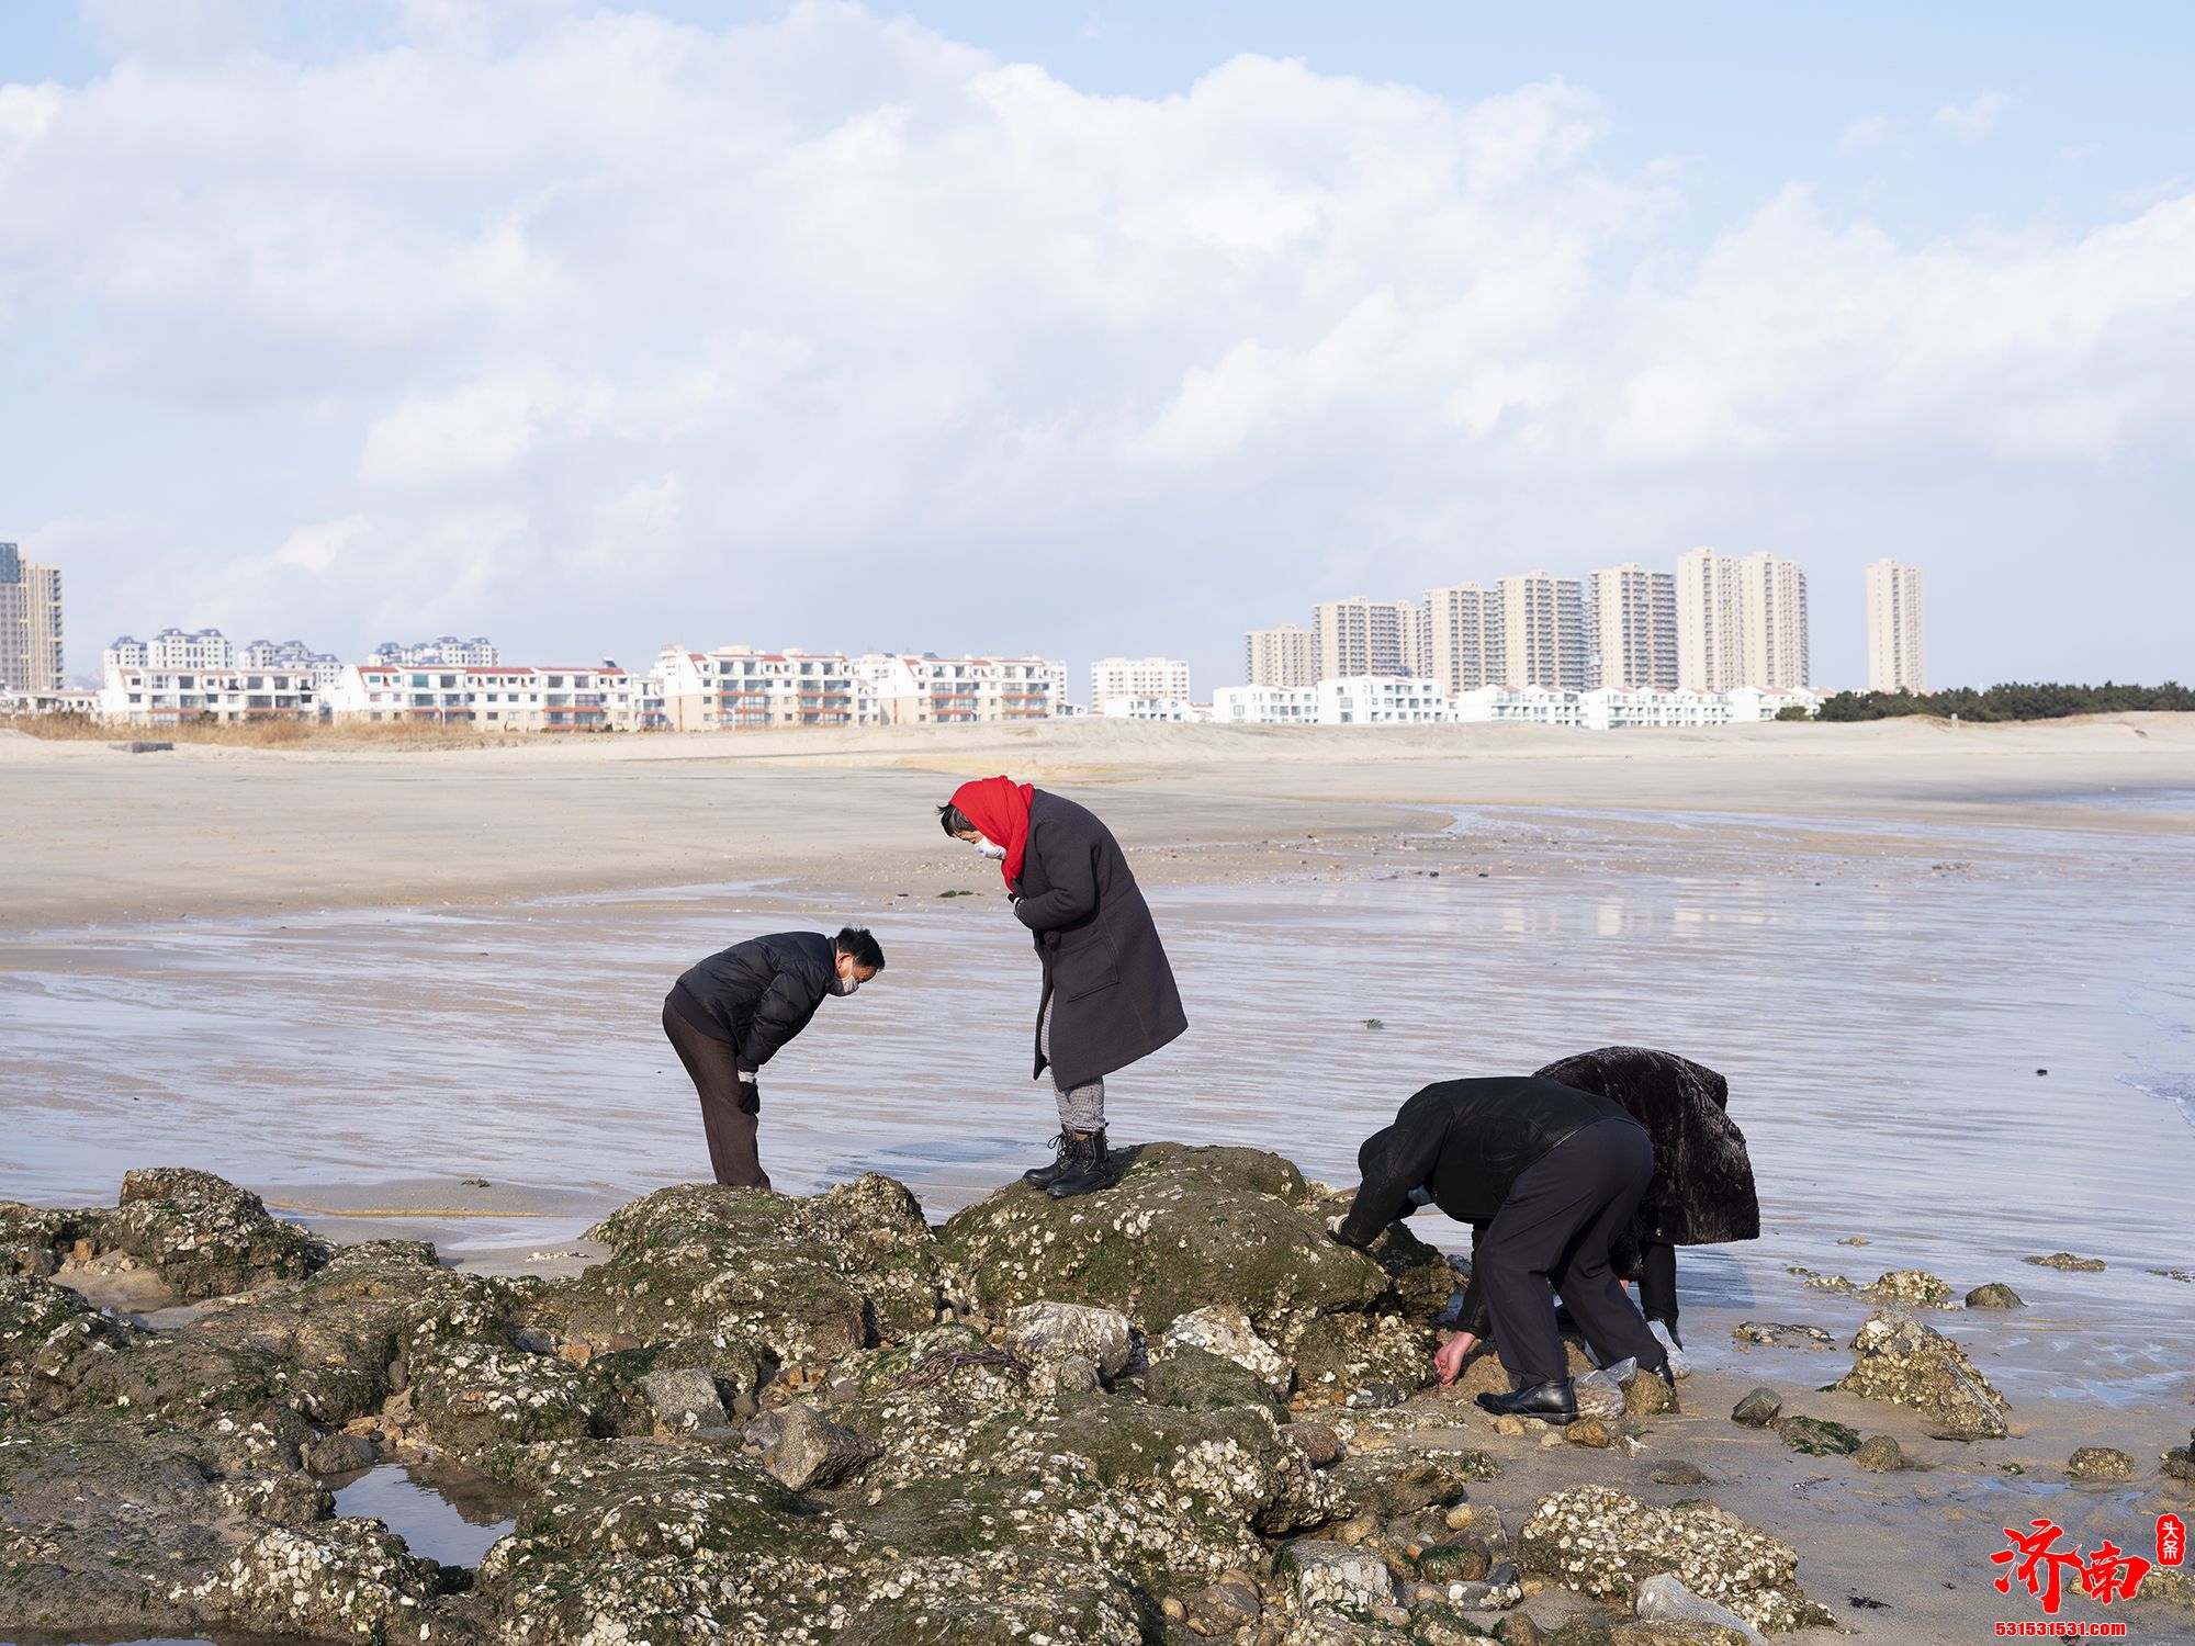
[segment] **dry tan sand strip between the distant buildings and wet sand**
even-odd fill
[[[1161,884],[1159,854],[1225,878],[1249,871],[1229,854],[1400,838],[1431,808],[1618,812],[1637,830],[1716,812],[1802,834],[1822,812],[2127,843],[2195,830],[2186,810],[2090,803],[2195,794],[2195,715],[1712,733],[1062,722],[406,753],[0,740],[15,865],[0,937],[762,880],[937,891],[970,878],[928,827],[937,799],[1001,768],[1095,801]]]

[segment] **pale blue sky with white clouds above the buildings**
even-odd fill
[[[1668,15],[1681,13],[1681,15]],[[2195,678],[2195,7],[9,0],[70,667],[1185,656],[1769,549]]]

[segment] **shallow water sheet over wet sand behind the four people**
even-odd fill
[[[2186,843],[1960,827],[1940,858],[1839,858],[1712,819],[1708,858],[1611,814],[1457,830],[1350,878],[1152,889],[1192,1029],[1111,1082],[1115,1139],[1256,1143],[1348,1183],[1431,1080],[1662,1045],[1730,1075],[1767,1225],[1686,1255],[1688,1308],[1817,1317],[1787,1264],[2006,1279],[2037,1308],[1960,1332],[2030,1394],[2186,1385],[2195,1293],[2147,1273],[2195,1269]],[[669,981],[742,935],[845,917],[891,963],[764,1071],[764,1161],[792,1192],[891,1172],[942,1216],[1054,1130],[1027,1080],[1027,939],[968,884],[983,895],[819,909],[702,887],[0,946],[0,1196],[112,1200],[134,1163],[296,1205],[430,1181],[485,1211],[439,1220],[446,1251],[555,1249],[707,1170],[658,1023]],[[492,1192],[459,1190],[474,1176]],[[2057,1249],[2109,1269],[2019,1264]]]

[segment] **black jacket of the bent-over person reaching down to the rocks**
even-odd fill
[[[1631,1115],[1589,1091],[1536,1075],[1444,1080],[1427,1086],[1357,1150],[1363,1185],[1341,1240],[1370,1247],[1381,1229],[1411,1209],[1409,1192],[1425,1187],[1433,1205],[1457,1222],[1486,1225],[1510,1185],[1583,1126]]]

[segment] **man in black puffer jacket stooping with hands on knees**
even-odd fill
[[[852,994],[885,970],[860,926],[836,937],[781,931],[689,966],[663,999],[663,1034],[700,1093],[700,1124],[718,1183],[770,1187],[755,1152],[762,1093],[755,1071],[808,1027],[825,994]]]

